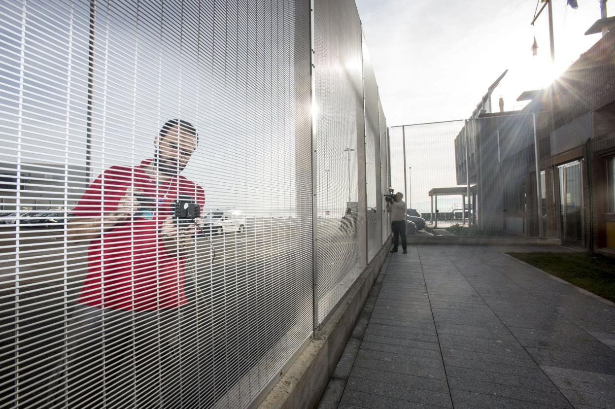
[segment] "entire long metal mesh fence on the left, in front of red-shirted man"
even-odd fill
[[[2,407],[247,407],[388,237],[354,2],[0,14]]]

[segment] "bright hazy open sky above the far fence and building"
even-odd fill
[[[601,38],[584,35],[600,18],[598,0],[577,0],[576,10],[554,0],[552,68],[547,8],[530,25],[536,2],[356,0],[387,125],[467,118],[505,69],[494,110],[500,95],[506,111],[522,109],[523,91],[548,85]],[[607,6],[614,15],[615,1]]]

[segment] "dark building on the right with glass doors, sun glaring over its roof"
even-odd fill
[[[522,111],[466,121],[456,178],[477,186],[482,235],[559,237],[615,254],[614,52],[610,32]]]

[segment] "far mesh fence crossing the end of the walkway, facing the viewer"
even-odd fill
[[[544,113],[502,113],[392,127],[391,178],[407,192],[408,231],[544,236],[557,215],[544,193],[546,177],[536,177],[546,135],[535,133],[534,122],[548,120]]]

